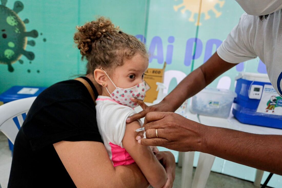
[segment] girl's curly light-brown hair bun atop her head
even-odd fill
[[[77,43],[82,58],[91,53],[95,41],[119,31],[119,27],[114,27],[111,20],[105,17],[99,17],[96,21],[87,22],[76,28],[78,32],[74,34],[74,42]]]

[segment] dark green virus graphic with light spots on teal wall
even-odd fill
[[[21,56],[24,55],[29,60],[33,60],[33,52],[25,50],[27,45],[35,46],[35,41],[27,41],[27,37],[38,37],[38,32],[32,30],[26,32],[25,24],[28,19],[22,21],[17,15],[23,10],[23,3],[16,1],[14,8],[11,10],[6,7],[7,0],[1,0],[0,5],[0,63],[8,65],[10,72],[14,71],[12,64],[16,61],[23,64]]]

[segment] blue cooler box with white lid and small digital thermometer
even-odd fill
[[[236,80],[234,117],[241,123],[282,129],[282,98],[268,76],[244,72]]]

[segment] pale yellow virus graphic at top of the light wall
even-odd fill
[[[175,0],[177,1],[177,0]],[[191,16],[189,18],[189,21],[194,22],[194,16],[195,14],[199,13],[200,9],[200,2],[199,0],[183,0],[183,3],[179,5],[173,6],[174,10],[177,12],[180,8],[181,13],[184,14],[186,10],[189,10],[191,12]],[[221,15],[221,12],[218,12],[215,9],[215,5],[219,4],[220,7],[224,5],[225,1],[222,0],[202,0],[202,6],[201,6],[201,13],[205,14],[205,20],[210,19],[210,15],[208,14],[209,10],[212,10],[215,13],[215,17],[219,17]],[[184,8],[183,8],[184,7]],[[201,23],[195,23],[195,25],[201,25]]]

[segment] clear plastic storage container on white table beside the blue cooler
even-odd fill
[[[191,112],[205,116],[228,118],[237,94],[227,89],[205,88],[192,97]]]

